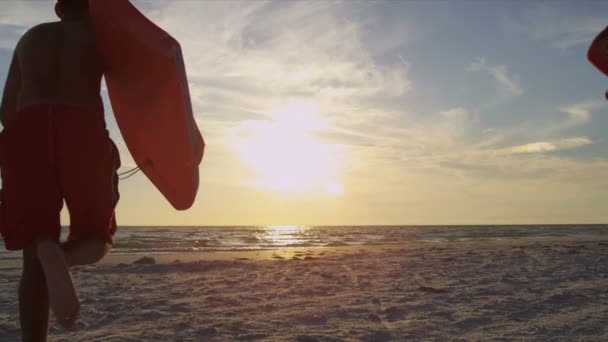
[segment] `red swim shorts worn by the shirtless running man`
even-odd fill
[[[102,114],[65,105],[29,106],[0,134],[0,233],[8,250],[59,241],[63,201],[69,240],[116,232],[120,158]]]

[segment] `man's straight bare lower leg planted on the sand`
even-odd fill
[[[19,284],[19,322],[23,342],[44,342],[49,329],[49,297],[35,244],[23,250]]]

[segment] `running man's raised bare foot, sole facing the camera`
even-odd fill
[[[78,319],[80,303],[63,251],[55,241],[39,240],[36,252],[46,278],[51,309],[59,324],[69,330]]]

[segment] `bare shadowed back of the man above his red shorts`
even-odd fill
[[[39,103],[61,103],[103,112],[103,72],[93,28],[86,17],[30,29],[17,44],[16,57],[22,82],[17,110]]]

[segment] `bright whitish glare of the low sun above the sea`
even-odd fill
[[[268,120],[241,125],[237,148],[251,167],[253,186],[280,192],[344,193],[338,180],[339,151],[314,132],[329,128],[315,102],[290,102],[266,113]]]

